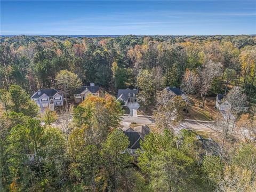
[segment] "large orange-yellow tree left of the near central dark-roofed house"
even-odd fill
[[[74,109],[74,123],[77,129],[86,127],[89,143],[101,143],[111,129],[119,126],[122,114],[121,104],[111,95],[91,95]]]

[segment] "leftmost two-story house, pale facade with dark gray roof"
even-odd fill
[[[63,105],[62,94],[55,89],[38,90],[31,96],[31,100],[35,101],[41,109],[49,107],[54,110],[55,106]]]

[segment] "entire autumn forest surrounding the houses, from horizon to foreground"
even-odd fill
[[[255,36],[13,36],[1,37],[0,57],[1,191],[255,191]],[[63,71],[102,94],[41,117],[30,95],[58,89]],[[174,131],[186,103],[159,101],[166,86],[202,108],[207,97],[226,96],[235,119],[215,119],[218,153],[192,132]],[[124,111],[113,97],[127,87],[155,110],[156,130],[138,159],[125,151]],[[63,129],[51,126],[60,116]]]

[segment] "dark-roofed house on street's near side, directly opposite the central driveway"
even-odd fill
[[[137,157],[135,151],[140,148],[140,141],[144,140],[144,137],[149,134],[149,127],[147,125],[140,125],[137,127],[129,128],[124,131],[124,134],[128,137],[130,144],[127,151],[130,155]]]

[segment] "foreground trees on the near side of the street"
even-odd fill
[[[174,131],[180,113],[168,118],[184,104],[180,97],[166,107],[159,103],[156,130],[140,143],[136,160],[118,129],[121,103],[111,95],[66,106],[58,126],[51,126],[55,112],[47,110],[42,125],[25,90],[11,85],[1,90],[1,191],[254,191],[256,108],[239,121],[250,131],[244,139],[222,122],[220,141],[202,143],[188,130]]]

